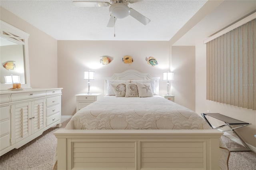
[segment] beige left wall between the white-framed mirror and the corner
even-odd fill
[[[57,87],[57,41],[2,7],[0,19],[30,34],[28,53],[31,87]]]

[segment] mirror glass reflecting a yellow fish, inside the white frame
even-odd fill
[[[19,75],[20,83],[25,84],[23,45],[0,37],[0,83],[6,83],[4,76]]]

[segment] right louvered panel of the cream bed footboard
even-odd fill
[[[141,142],[142,168],[204,168],[203,142]]]

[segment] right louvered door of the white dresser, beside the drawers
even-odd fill
[[[32,101],[31,130],[32,134],[46,127],[46,100]]]

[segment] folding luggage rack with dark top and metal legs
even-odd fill
[[[218,119],[220,121],[225,122],[226,123],[225,125],[221,125],[219,127],[213,128],[213,129],[219,129],[220,130],[220,128],[229,127],[229,129],[227,129],[227,130],[220,130],[220,131],[227,132],[229,130],[232,130],[232,132],[234,132],[234,134],[236,134],[236,136],[239,138],[239,140],[246,147],[246,148],[228,148],[230,150],[230,152],[231,151],[251,151],[251,148],[246,144],[246,142],[244,142],[244,140],[235,131],[235,129],[237,129],[237,128],[241,128],[241,127],[245,127],[245,126],[248,126],[248,125],[252,125],[251,123],[239,121],[237,119],[233,119],[232,117],[221,115],[220,113],[201,113],[201,115],[205,119],[205,121],[210,125],[211,128],[213,128],[213,127],[210,124],[210,122],[206,119],[205,115],[213,117],[215,119]],[[236,127],[232,127],[232,126],[236,126]]]

